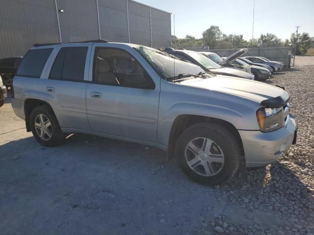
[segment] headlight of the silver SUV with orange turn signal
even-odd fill
[[[270,132],[277,130],[284,126],[284,112],[283,108],[260,108],[256,112],[257,120],[259,122],[260,130],[262,132]]]

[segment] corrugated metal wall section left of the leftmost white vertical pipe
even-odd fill
[[[54,0],[1,0],[0,58],[54,42],[59,42]]]

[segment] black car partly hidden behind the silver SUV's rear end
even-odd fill
[[[11,86],[12,78],[18,70],[22,58],[22,56],[13,56],[0,59],[0,76],[5,86]]]

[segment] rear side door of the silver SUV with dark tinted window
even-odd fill
[[[90,130],[85,101],[90,51],[91,44],[62,45],[47,72],[44,89],[53,96],[61,128]]]

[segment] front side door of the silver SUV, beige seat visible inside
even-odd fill
[[[160,77],[154,76],[151,67],[144,68],[147,62],[134,49],[129,48],[131,53],[116,47],[93,50],[86,90],[92,130],[156,142]]]

